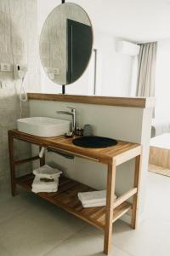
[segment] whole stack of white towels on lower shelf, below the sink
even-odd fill
[[[59,176],[61,171],[48,165],[37,168],[33,171],[35,178],[32,183],[32,192],[56,192],[59,185]]]

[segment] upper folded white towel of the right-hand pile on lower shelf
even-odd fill
[[[106,190],[78,193],[78,198],[83,204],[105,203]],[[115,195],[116,199],[116,195]]]

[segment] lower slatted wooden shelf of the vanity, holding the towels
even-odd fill
[[[31,191],[31,183],[33,182],[34,175],[29,174],[15,179],[15,183]],[[71,212],[73,215],[82,220],[93,224],[95,227],[105,229],[105,207],[90,207],[83,208],[81,201],[78,200],[78,192],[94,191],[94,189],[78,183],[68,177],[59,177],[59,189],[55,193],[38,193],[43,199],[50,201],[56,206]],[[120,218],[124,213],[132,208],[128,202],[123,202],[119,207],[116,207],[113,212],[113,222]]]

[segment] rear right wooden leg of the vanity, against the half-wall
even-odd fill
[[[139,183],[140,183],[140,166],[141,166],[141,155],[138,155],[135,159],[135,172],[134,172],[134,188],[137,188],[137,194],[133,195],[133,210],[132,210],[132,222],[131,226],[133,229],[137,227],[138,220],[138,205],[139,205]]]

